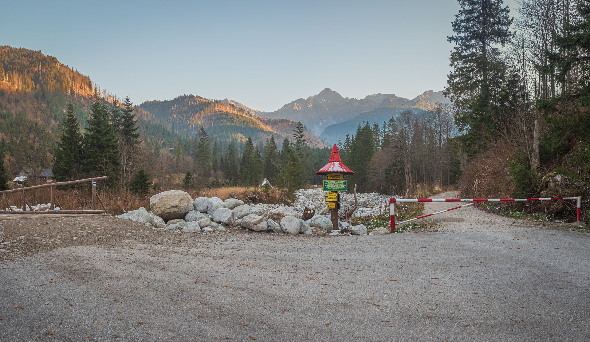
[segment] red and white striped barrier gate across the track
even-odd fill
[[[405,199],[390,198],[389,199],[389,212],[391,214],[391,224],[390,224],[391,232],[392,233],[394,232],[396,225],[401,225],[402,223],[414,221],[414,220],[425,218],[425,217],[432,216],[432,215],[437,215],[438,213],[443,213],[443,212],[451,211],[454,209],[463,208],[464,206],[473,205],[473,204],[479,203],[479,202],[514,202],[514,201],[526,202],[527,200],[556,200],[556,199],[576,199],[576,200],[578,200],[578,222],[580,222],[580,208],[582,206],[582,197],[581,196],[552,197],[552,198],[460,198],[460,199],[455,199],[455,198],[405,198]],[[428,215],[422,215],[422,216],[418,216],[417,218],[413,218],[413,219],[409,219],[406,221],[395,223],[395,203],[399,203],[399,202],[414,202],[414,203],[415,202],[471,202],[471,203],[460,205],[460,206],[455,206],[455,208],[446,209],[443,211],[431,213]]]

